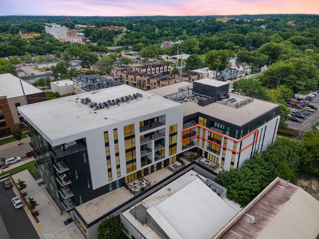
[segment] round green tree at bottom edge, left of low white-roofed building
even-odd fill
[[[123,224],[111,215],[104,219],[98,226],[98,239],[115,239],[121,235]]]

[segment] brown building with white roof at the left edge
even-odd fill
[[[17,107],[45,101],[46,98],[43,91],[9,73],[0,74],[0,86],[0,137],[4,137],[14,128],[24,130],[23,118],[17,112]]]

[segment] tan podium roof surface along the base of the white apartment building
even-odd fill
[[[151,185],[154,185],[171,174],[172,172],[170,170],[167,168],[162,168],[154,173],[144,176],[144,178],[148,180]],[[94,220],[106,215],[108,212],[112,211],[133,197],[134,195],[128,189],[125,187],[120,187],[100,197],[92,199],[89,202],[83,203],[80,206],[77,206],[76,210],[80,213],[85,222],[90,224]]]

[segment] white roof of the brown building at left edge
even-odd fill
[[[21,80],[25,95],[41,93],[40,89]],[[0,74],[0,96],[7,99],[23,96],[20,79],[10,73]]]

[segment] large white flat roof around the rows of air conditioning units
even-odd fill
[[[107,100],[121,98],[140,93],[140,99],[131,103],[125,102],[121,106],[115,105],[111,109],[95,110],[81,103],[82,98],[90,98],[91,102],[103,103]],[[60,142],[54,140],[75,135],[84,137],[91,130],[118,123],[121,121],[182,107],[179,103],[137,88],[120,85],[78,95],[63,97],[55,100],[40,102],[18,108],[19,113],[32,124],[53,146]],[[49,122],[49,123],[48,123]],[[132,123],[132,120],[131,120]],[[76,138],[75,138],[76,139]],[[72,140],[75,140],[72,139]]]

